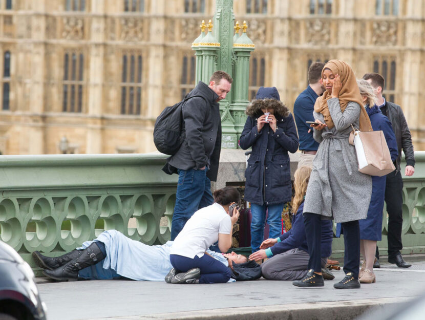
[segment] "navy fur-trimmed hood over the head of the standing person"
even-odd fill
[[[279,92],[276,87],[264,88],[260,87],[256,94],[256,98],[252,100],[246,107],[245,113],[249,117],[261,115],[261,108],[272,108],[274,114],[278,114],[284,118],[289,116],[289,109],[280,100]]]

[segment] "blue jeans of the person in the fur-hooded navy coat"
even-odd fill
[[[251,203],[251,249],[252,252],[260,250],[264,239],[264,225],[266,220],[266,208],[268,208],[267,223],[269,228],[268,238],[278,238],[282,234],[282,211],[284,203],[269,206]]]

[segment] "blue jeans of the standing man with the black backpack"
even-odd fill
[[[171,240],[183,229],[186,221],[195,211],[214,203],[211,194],[211,181],[204,170],[179,169],[179,183],[177,185],[176,205],[174,206],[173,220],[171,222]]]

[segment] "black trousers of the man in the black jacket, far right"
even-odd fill
[[[393,258],[403,248],[401,228],[403,225],[403,179],[401,173],[393,171],[387,175],[385,203],[388,212],[388,257]],[[379,250],[376,246],[376,258]]]

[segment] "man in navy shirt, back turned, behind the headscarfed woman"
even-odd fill
[[[318,143],[313,139],[313,134],[309,132],[309,122],[314,123],[314,102],[316,102],[317,97],[325,91],[322,83],[320,83],[324,66],[325,63],[323,62],[313,62],[311,64],[308,69],[309,85],[307,89],[296,98],[294,103],[294,117],[301,151],[300,160],[298,162],[299,167],[303,165],[311,167],[318,148]]]

